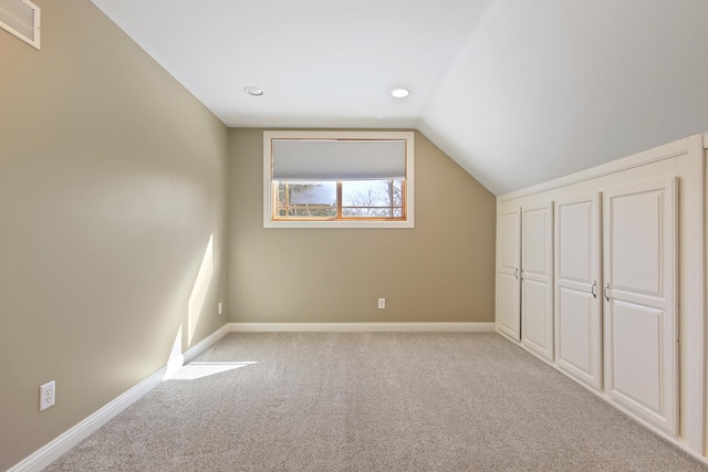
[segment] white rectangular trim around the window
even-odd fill
[[[414,132],[263,132],[263,228],[397,228],[415,227]],[[405,139],[406,140],[406,221],[283,221],[271,220],[271,143],[272,139]]]

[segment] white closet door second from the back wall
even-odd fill
[[[521,340],[553,360],[553,204],[523,208]]]

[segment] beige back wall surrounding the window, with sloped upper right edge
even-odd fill
[[[230,129],[230,321],[493,322],[496,198],[415,149],[415,229],[263,229],[262,129]]]

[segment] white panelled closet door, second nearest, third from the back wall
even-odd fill
[[[602,389],[600,193],[555,203],[558,366]]]

